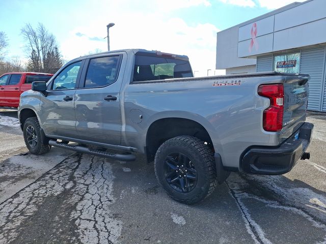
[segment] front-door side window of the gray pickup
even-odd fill
[[[53,90],[75,88],[78,72],[82,66],[82,61],[67,66],[53,81]]]

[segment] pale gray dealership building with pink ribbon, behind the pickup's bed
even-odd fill
[[[326,0],[293,3],[217,34],[216,69],[310,75],[308,109],[326,112]]]

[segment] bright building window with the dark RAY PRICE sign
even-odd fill
[[[290,53],[274,57],[274,71],[300,73],[300,53]]]

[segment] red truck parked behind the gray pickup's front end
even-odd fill
[[[33,81],[48,81],[53,74],[13,72],[0,77],[0,107],[18,108],[20,94],[30,90]]]

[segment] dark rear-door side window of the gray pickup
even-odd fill
[[[85,87],[111,85],[118,77],[120,56],[92,58],[88,66]]]

